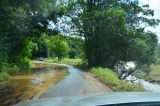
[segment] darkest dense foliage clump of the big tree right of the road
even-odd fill
[[[121,33],[125,31],[125,13],[121,9],[111,8],[104,11],[93,11],[92,16],[95,19],[89,17],[88,20],[85,20],[87,21],[85,26],[90,25],[87,28],[95,30],[94,33],[88,32],[88,34],[92,34],[92,37],[88,36],[87,33],[85,36],[85,52],[88,64],[90,66],[111,67],[117,54],[122,52],[123,44],[120,41],[123,41]],[[91,24],[89,24],[90,21]]]

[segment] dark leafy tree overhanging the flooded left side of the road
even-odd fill
[[[0,64],[24,63],[23,66],[28,66],[24,60],[29,59],[30,50],[26,48],[33,37],[48,31],[49,21],[54,21],[56,17],[54,5],[53,0],[0,1],[0,44],[3,45],[0,46],[0,60],[3,60]],[[30,41],[26,42],[26,39]],[[24,52],[28,52],[27,55]]]

